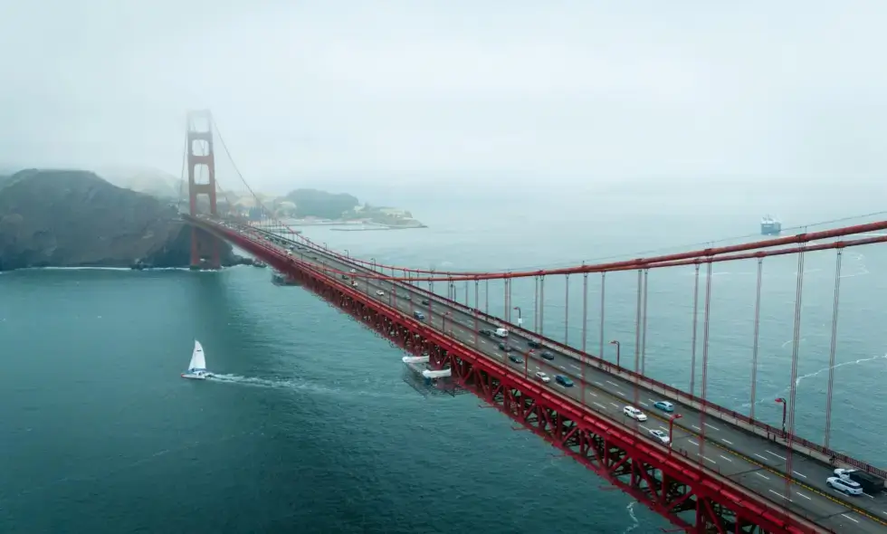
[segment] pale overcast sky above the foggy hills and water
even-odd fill
[[[0,164],[874,180],[884,0],[0,2]],[[224,162],[220,162],[224,168]]]

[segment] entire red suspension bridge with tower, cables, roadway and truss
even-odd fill
[[[228,150],[208,112],[193,113],[188,125],[189,211],[183,216],[193,228],[193,267],[219,266],[219,240],[252,253],[417,359],[427,358],[428,366],[439,371],[434,376],[445,377],[439,386],[457,387],[479,396],[520,427],[539,434],[661,514],[677,529],[725,533],[887,532],[887,495],[882,491],[887,472],[855,458],[853,452],[839,453],[829,446],[844,251],[887,241],[883,234],[872,234],[887,230],[887,221],[553,270],[413,269],[350,257],[347,252],[338,253],[325,243],[314,243],[291,232],[262,205],[243,176],[240,179],[253,194],[261,216],[246,220],[221,213],[216,195],[225,193],[215,179],[214,132],[224,151]],[[808,439],[796,434],[804,263],[810,253],[828,250],[835,251],[835,278],[830,289],[834,298],[825,432],[819,439]],[[756,392],[761,280],[765,260],[775,256],[794,256],[796,275],[792,281],[795,300],[790,387],[786,396],[767,399],[782,409],[781,424],[774,425],[758,420],[755,406],[762,400]],[[718,405],[709,395],[712,268],[720,262],[741,260],[757,263],[747,413]],[[687,391],[644,374],[649,272],[679,267],[691,269],[694,282]],[[615,272],[636,272],[634,351],[627,362],[620,354],[618,340],[605,343],[605,295],[608,276],[612,278]],[[523,326],[522,310],[511,301],[512,285],[522,279],[533,282],[532,329]],[[490,313],[491,281],[501,284],[501,316]],[[435,282],[438,288],[446,288],[446,296],[434,291]],[[571,283],[574,291],[569,289]],[[578,319],[581,335],[577,346],[571,346],[567,343],[568,300],[573,294],[576,309],[577,283],[582,288]],[[544,332],[546,286],[566,286],[564,342],[546,337]],[[599,292],[599,302],[588,298],[591,286]],[[458,293],[462,289],[464,298],[460,302]],[[517,321],[512,321],[512,310],[517,312]],[[592,317],[595,327],[589,327]],[[507,329],[507,337],[497,337],[497,329]],[[595,332],[596,347],[588,346],[589,329],[599,330]],[[615,361],[603,357],[605,348],[611,345]],[[543,378],[548,376],[555,379]],[[666,409],[657,409],[657,403],[665,403]],[[630,416],[626,407],[640,410],[645,416]],[[865,492],[850,495],[833,487],[829,480],[836,468],[856,470],[854,476],[862,477]]]

